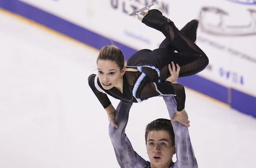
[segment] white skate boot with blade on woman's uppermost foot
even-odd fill
[[[161,5],[148,5],[142,7],[141,9],[137,9],[136,11],[129,14],[129,16],[138,16],[138,19],[142,21],[144,16],[148,13],[149,10],[156,9],[162,13],[163,8]]]

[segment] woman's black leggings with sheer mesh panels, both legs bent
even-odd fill
[[[161,80],[164,81],[170,75],[168,64],[172,61],[181,67],[179,77],[197,74],[208,65],[208,57],[194,43],[197,21],[190,21],[179,31],[171,20],[162,16],[161,12],[150,10],[142,22],[161,31],[166,39],[158,49],[153,51],[144,49],[136,52],[128,60],[128,66],[155,66],[161,70]]]

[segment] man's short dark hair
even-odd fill
[[[172,127],[171,120],[166,118],[158,118],[151,123],[149,123],[146,127],[145,131],[145,140],[147,144],[147,137],[150,131],[167,131],[169,133],[170,139],[172,141],[172,145],[175,145],[175,135]]]

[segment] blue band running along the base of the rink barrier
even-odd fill
[[[128,56],[132,56],[132,54],[136,52],[136,50],[126,45],[103,37],[19,0],[0,0],[0,8],[33,20],[41,25],[53,29],[54,31],[61,32],[68,37],[72,37],[81,43],[88,44],[98,50],[101,49],[102,46],[113,42],[123,51],[123,54],[126,56],[126,60],[129,58]],[[227,103],[232,108],[256,118],[256,97],[254,96],[232,88],[229,92],[230,88],[202,78],[199,75],[179,78],[179,82],[186,87],[190,87],[196,91],[213,97],[216,100]]]

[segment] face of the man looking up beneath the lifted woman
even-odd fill
[[[150,131],[147,137],[147,152],[151,168],[169,168],[175,147],[167,131]]]

